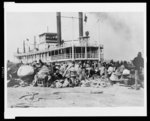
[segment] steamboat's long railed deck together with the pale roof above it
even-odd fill
[[[103,45],[97,43],[80,43],[78,40],[67,41],[61,46],[54,46],[45,50],[18,53],[15,56],[23,62],[41,59],[44,62],[68,60],[100,60]]]

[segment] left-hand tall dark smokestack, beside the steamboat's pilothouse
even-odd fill
[[[57,42],[61,44],[61,13],[57,12]]]

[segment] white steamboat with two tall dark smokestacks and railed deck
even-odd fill
[[[39,35],[37,47],[34,41],[34,49],[26,51],[25,41],[23,41],[23,52],[14,54],[17,60],[23,63],[32,63],[42,60],[43,62],[67,62],[67,61],[103,61],[103,45],[89,43],[89,32],[83,31],[83,13],[78,13],[79,37],[77,40],[62,40],[61,36],[61,12],[56,13],[57,33],[45,32]]]

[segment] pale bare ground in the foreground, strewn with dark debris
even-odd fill
[[[38,93],[34,99],[27,93]],[[134,90],[114,85],[105,88],[74,87],[9,87],[7,90],[8,107],[122,107],[144,106],[144,89]]]

